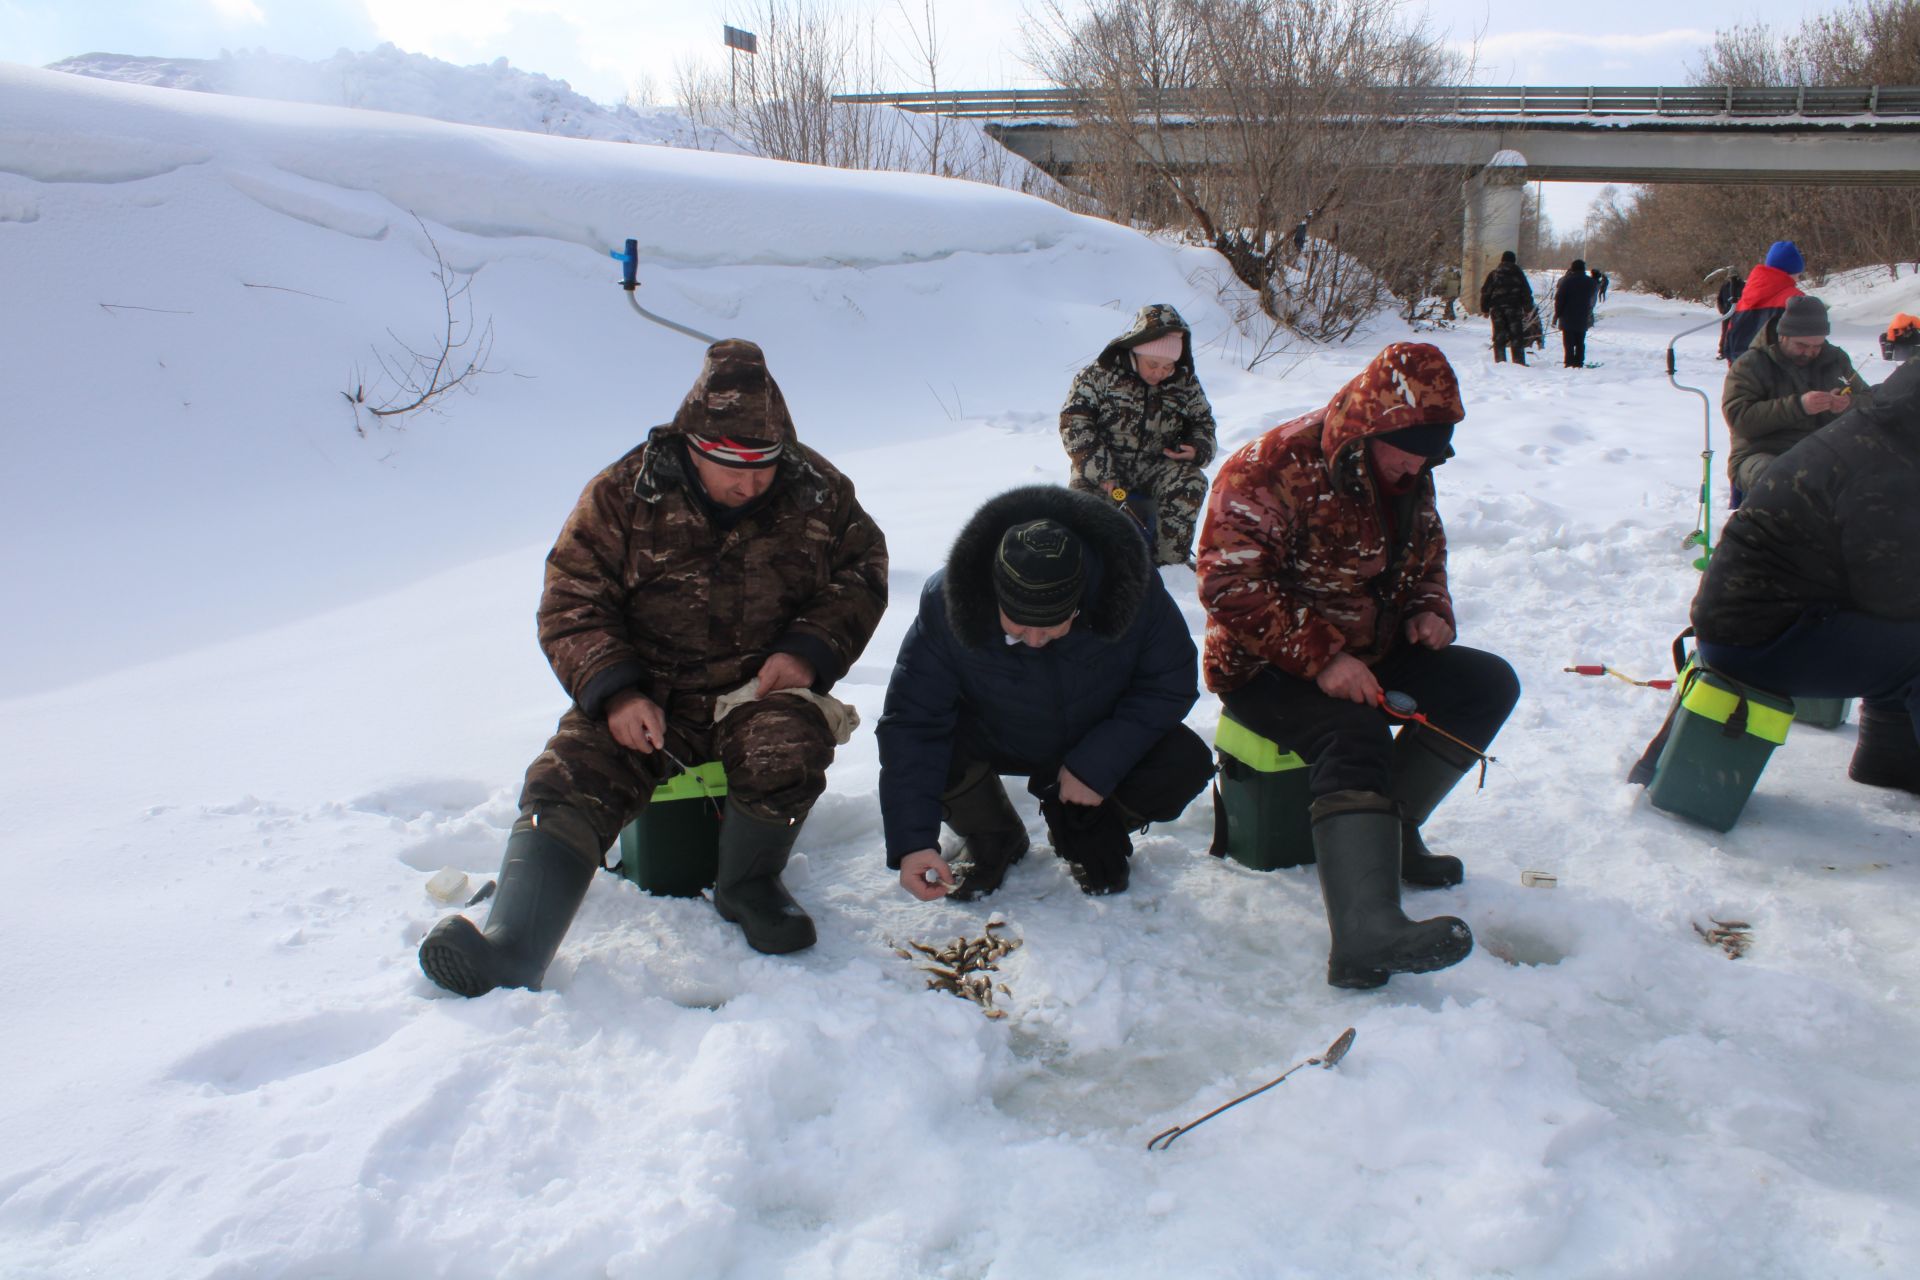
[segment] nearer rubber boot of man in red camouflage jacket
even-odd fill
[[[1332,931],[1332,986],[1380,986],[1394,973],[1446,969],[1473,950],[1465,921],[1411,921],[1400,910],[1400,814],[1386,796],[1336,791],[1315,800],[1313,854]]]

